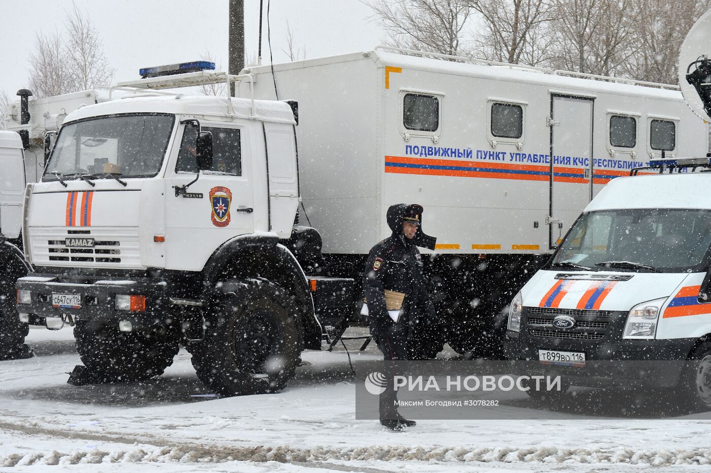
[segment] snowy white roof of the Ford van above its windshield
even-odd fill
[[[711,173],[635,175],[611,180],[585,212],[615,209],[709,209]]]

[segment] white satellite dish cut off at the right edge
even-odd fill
[[[694,23],[681,45],[679,85],[690,109],[711,121],[711,10]]]

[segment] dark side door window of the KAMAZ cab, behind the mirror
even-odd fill
[[[213,134],[213,167],[205,170],[205,174],[242,175],[240,130],[214,126],[203,126],[202,129]],[[176,173],[197,172],[195,140],[196,134],[183,134]]]

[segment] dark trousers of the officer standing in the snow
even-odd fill
[[[385,391],[380,394],[380,420],[396,420],[397,391],[395,391],[395,376],[397,370],[395,363],[388,361],[407,360],[407,325],[395,323],[385,334],[378,337],[378,348],[383,352],[383,369],[385,372]]]

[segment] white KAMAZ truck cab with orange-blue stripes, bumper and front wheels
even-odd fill
[[[233,80],[250,77],[198,71],[118,87]],[[294,229],[292,106],[149,91],[68,114],[28,190],[36,273],[17,282],[21,318],[75,324],[97,381],[161,374],[183,341],[217,392],[282,388],[322,335],[316,278],[294,256],[317,259],[321,245],[316,230]],[[319,288],[352,286],[316,271]]]

